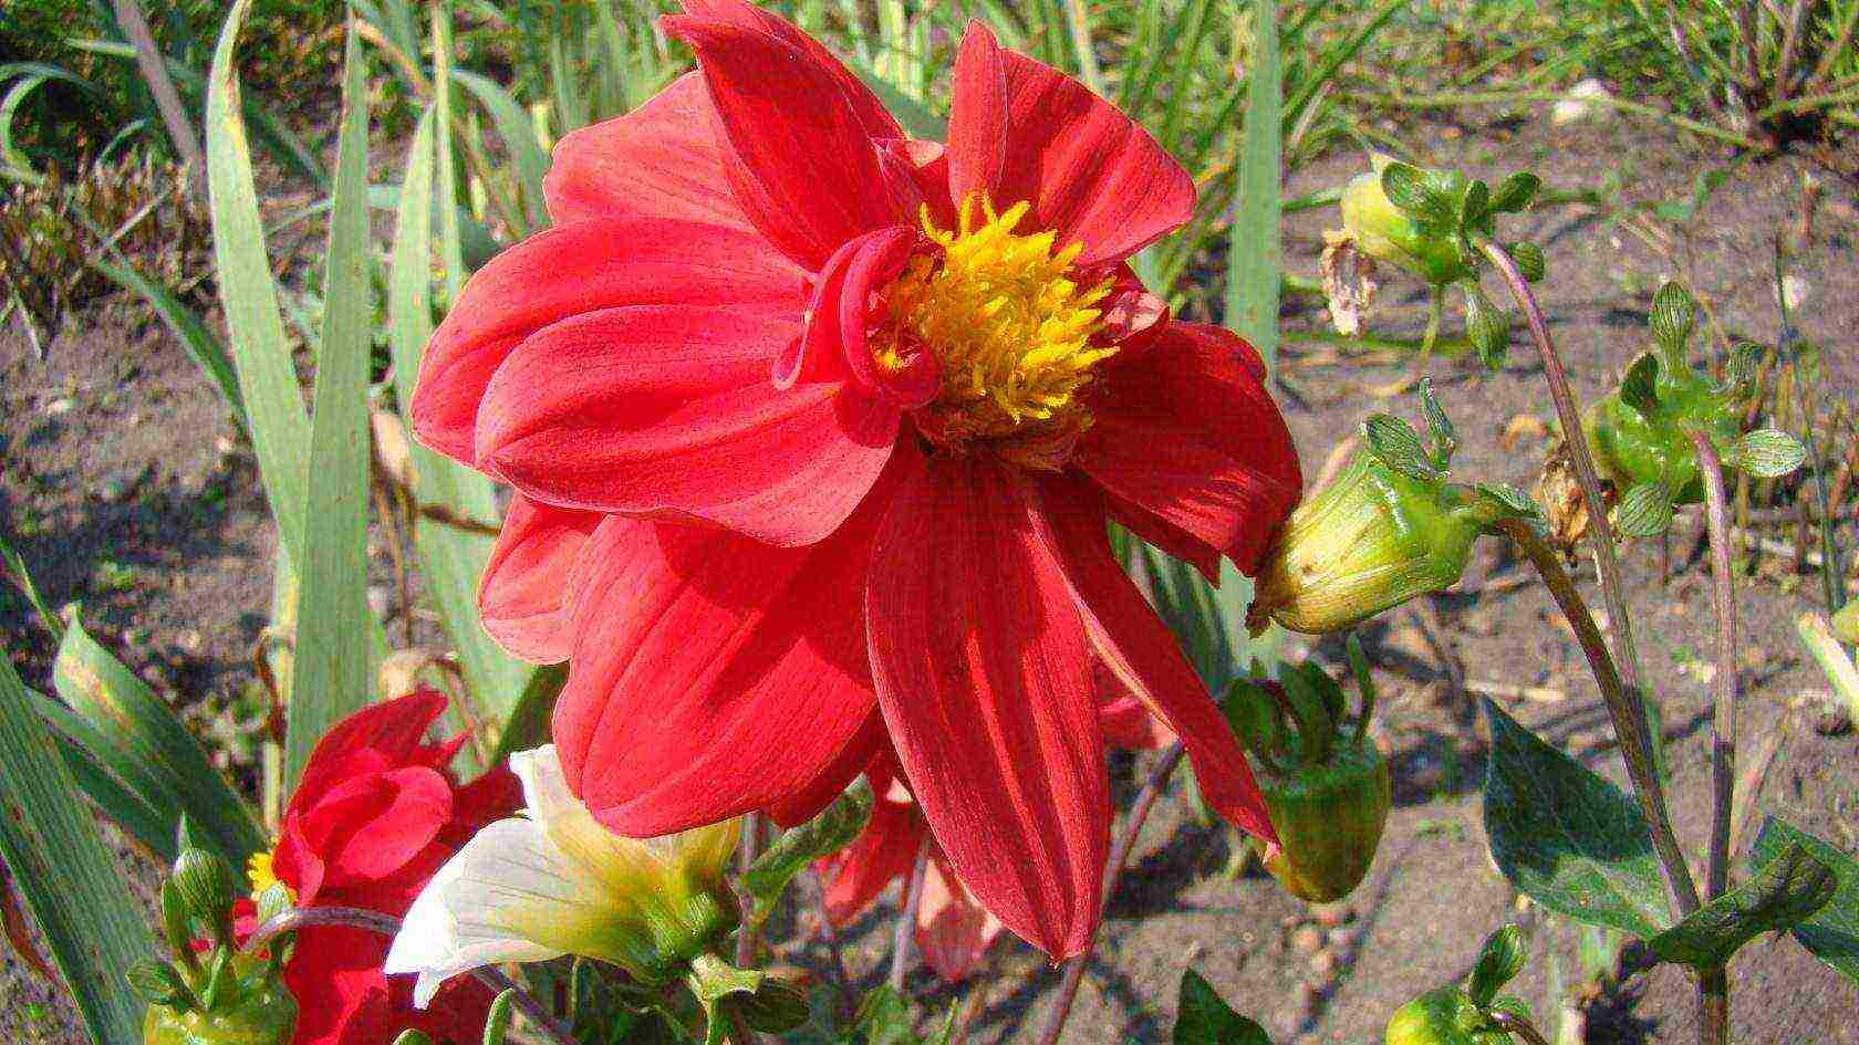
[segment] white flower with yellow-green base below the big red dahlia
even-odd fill
[[[554,744],[511,755],[509,768],[528,809],[439,868],[387,954],[389,974],[418,972],[416,1006],[472,969],[563,954],[662,982],[734,926],[723,868],[740,820],[626,839],[569,794]]]

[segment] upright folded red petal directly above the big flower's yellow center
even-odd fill
[[[1002,210],[1030,201],[1032,225],[1084,240],[1080,264],[1121,260],[1193,216],[1193,179],[1141,125],[980,20],[956,58],[948,149],[957,203],[972,190]]]

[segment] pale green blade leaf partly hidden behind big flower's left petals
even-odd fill
[[[389,346],[394,357],[394,396],[402,409],[413,402],[420,357],[433,337],[433,112],[428,110],[407,149],[407,171],[400,186],[400,210],[394,225],[394,255],[387,286]],[[481,476],[433,454],[415,439],[413,496],[420,504],[441,506],[463,519],[494,522],[498,519],[496,487]],[[521,707],[534,679],[530,666],[515,660],[483,630],[478,614],[478,578],[491,562],[496,539],[420,519],[415,522],[413,545],[424,565],[422,580],[446,636],[459,656],[459,669],[470,690],[470,699],[487,716],[504,723]],[[558,686],[560,690],[560,686]],[[548,701],[554,707],[554,699]],[[547,721],[541,738],[524,733],[526,747],[547,744]],[[509,736],[509,725],[502,734]],[[500,744],[504,755],[509,753]],[[493,761],[496,764],[496,761]]]

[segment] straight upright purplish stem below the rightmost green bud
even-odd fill
[[[1723,493],[1723,461],[1703,431],[1690,431],[1697,470],[1705,480],[1705,530],[1710,534],[1710,601],[1718,610],[1718,675],[1712,679],[1716,708],[1710,720],[1710,850],[1705,863],[1705,898],[1716,900],[1729,887],[1731,820],[1736,790],[1736,591],[1731,565],[1731,513]],[[1697,976],[1697,1039],[1729,1041],[1731,985],[1723,969]]]

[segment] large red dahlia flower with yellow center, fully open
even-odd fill
[[[517,487],[485,627],[571,662],[554,740],[610,827],[801,816],[889,734],[969,889],[1076,954],[1110,826],[1093,658],[1272,839],[1104,536],[1253,573],[1298,500],[1257,353],[1127,264],[1193,182],[980,24],[939,145],[788,22],[684,9],[699,71],[561,139],[556,227],[420,368],[420,439]]]

